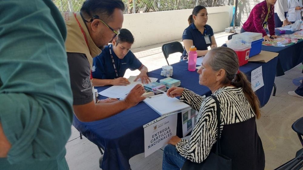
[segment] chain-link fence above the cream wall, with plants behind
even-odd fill
[[[78,12],[85,0],[53,0],[60,11]],[[122,0],[124,14],[191,9],[196,5],[217,7],[233,5],[234,0]]]

